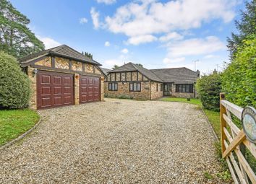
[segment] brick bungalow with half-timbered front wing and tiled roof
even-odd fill
[[[135,63],[107,71],[106,97],[132,97],[153,100],[163,96],[196,97],[195,82],[199,71],[187,68],[148,70]]]

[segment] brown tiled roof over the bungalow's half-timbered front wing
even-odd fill
[[[140,71],[140,73],[148,79],[156,81],[156,82],[162,82],[161,79],[159,79],[158,76],[156,76],[152,71],[143,68],[142,66],[136,65],[135,63],[126,63],[123,66],[120,66],[118,69],[114,69],[111,71],[108,71],[108,73],[114,73],[114,72],[122,72],[122,71]]]

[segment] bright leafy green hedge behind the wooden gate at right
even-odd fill
[[[221,79],[227,100],[256,107],[256,35],[244,40]]]

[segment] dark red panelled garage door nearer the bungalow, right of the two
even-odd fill
[[[100,79],[80,75],[80,103],[100,100]]]

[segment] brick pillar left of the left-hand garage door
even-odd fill
[[[36,110],[38,108],[37,102],[38,97],[36,94],[36,74],[33,76],[34,68],[27,66],[27,76],[30,79],[30,89],[31,89],[31,96],[29,102],[29,108]]]

